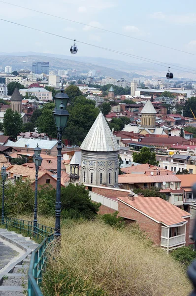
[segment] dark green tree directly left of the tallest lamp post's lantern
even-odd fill
[[[53,115],[54,103],[47,103],[43,106],[41,115],[35,122],[38,133],[46,133],[49,137],[57,137],[57,128]]]

